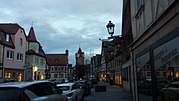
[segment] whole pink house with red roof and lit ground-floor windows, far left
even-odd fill
[[[26,34],[18,24],[0,24],[1,77],[24,80]]]

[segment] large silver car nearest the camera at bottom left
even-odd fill
[[[0,84],[0,101],[66,101],[62,90],[48,81]]]

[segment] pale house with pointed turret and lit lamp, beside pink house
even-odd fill
[[[31,27],[27,36],[27,51],[25,62],[25,79],[41,80],[45,79],[46,56],[41,44],[37,41],[34,28]]]

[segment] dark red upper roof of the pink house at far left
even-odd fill
[[[6,31],[10,34],[16,34],[19,28],[23,29],[17,23],[4,23],[4,24],[2,23],[2,24],[0,24],[0,29],[3,29],[4,31]]]

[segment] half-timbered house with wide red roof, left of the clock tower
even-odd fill
[[[65,54],[46,54],[50,79],[67,78],[68,71],[68,50]]]

